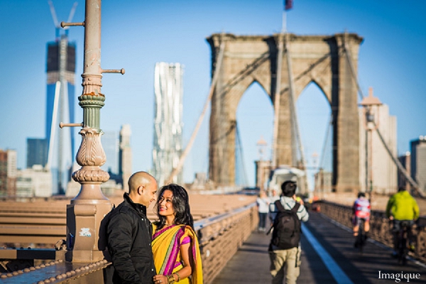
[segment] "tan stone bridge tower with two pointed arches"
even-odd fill
[[[278,72],[278,42],[283,58]],[[258,82],[275,100],[279,83],[278,131],[275,165],[295,165],[290,119],[290,79],[297,99],[310,82],[322,90],[333,115],[333,186],[338,191],[359,190],[359,116],[356,74],[359,45],[354,33],[335,35],[213,34],[212,74],[219,72],[212,96],[209,133],[209,178],[217,185],[235,184],[236,109],[244,92]],[[224,42],[220,70],[215,70],[219,45]],[[289,60],[288,60],[289,59]],[[291,71],[289,71],[291,70]],[[291,72],[289,74],[289,72]],[[277,78],[280,75],[280,78]],[[274,105],[274,109],[277,106]]]

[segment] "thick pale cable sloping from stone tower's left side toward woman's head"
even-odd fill
[[[219,55],[218,55],[218,58],[217,58],[217,65],[214,69],[214,75],[213,75],[213,79],[212,79],[212,84],[210,84],[209,95],[207,96],[206,102],[204,103],[204,108],[202,109],[202,113],[200,114],[200,118],[197,121],[195,129],[192,132],[190,141],[188,142],[187,146],[185,147],[185,150],[182,152],[182,155],[179,158],[178,165],[176,165],[176,167],[173,168],[172,173],[170,173],[170,176],[165,180],[166,184],[172,182],[175,175],[177,175],[180,172],[180,170],[182,169],[182,165],[185,162],[185,158],[187,156],[187,153],[189,153],[190,149],[192,148],[192,144],[194,143],[195,137],[197,136],[197,133],[200,130],[200,126],[201,126],[202,121],[204,119],[204,115],[207,111],[207,108],[209,107],[209,103],[210,103],[210,100],[212,99],[213,92],[214,92],[214,89],[216,87],[217,80],[219,78],[219,72],[220,72],[220,69],[221,69],[221,66],[222,66],[222,61],[223,61],[223,58],[224,58],[225,41],[223,39],[223,36],[221,37],[221,39],[222,39],[222,41],[221,41],[220,46],[219,46]]]

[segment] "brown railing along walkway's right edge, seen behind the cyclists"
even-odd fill
[[[320,212],[327,217],[334,219],[336,222],[352,227],[352,207],[333,202],[320,201],[316,202],[320,206]],[[413,234],[415,239],[415,252],[413,256],[421,261],[426,262],[426,218],[420,218],[413,226]],[[371,211],[370,233],[371,239],[381,242],[386,246],[393,247],[393,236],[391,233],[392,224],[386,218],[386,214],[380,210]]]

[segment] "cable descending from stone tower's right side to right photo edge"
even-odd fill
[[[364,94],[362,92],[361,87],[359,86],[359,81],[358,81],[358,78],[356,77],[356,74],[355,74],[355,71],[354,71],[354,65],[352,64],[352,60],[351,60],[351,52],[350,52],[349,48],[347,47],[347,43],[346,43],[345,40],[344,40],[343,48],[344,48],[344,53],[346,54],[346,60],[349,63],[352,78],[356,82],[356,88],[358,89],[358,92],[359,92],[361,99],[363,99]],[[415,182],[415,180],[413,180],[413,178],[410,177],[407,170],[405,170],[405,168],[400,163],[400,161],[397,158],[395,158],[395,156],[393,155],[393,153],[389,149],[388,145],[386,144],[386,141],[383,139],[383,136],[381,136],[381,133],[380,133],[380,131],[378,130],[377,127],[376,127],[376,132],[378,134],[378,137],[380,138],[381,143],[383,144],[383,147],[385,147],[386,152],[391,157],[391,159],[393,160],[393,163],[395,163],[395,165],[397,166],[400,173],[402,173],[404,175],[404,177],[408,180],[408,182],[410,182],[410,185],[412,185],[414,187],[414,191],[417,192],[417,194],[420,195],[420,197],[425,198],[425,196],[423,195],[421,190],[419,190],[419,185],[417,184],[417,182]]]

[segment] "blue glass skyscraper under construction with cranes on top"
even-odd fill
[[[70,180],[70,168],[75,155],[75,134],[72,128],[59,129],[58,124],[74,123],[75,105],[75,43],[68,42],[68,30],[60,35],[60,26],[56,18],[52,1],[50,11],[56,28],[55,42],[48,43],[46,72],[46,126],[45,137],[48,141],[46,168],[53,173],[53,192],[65,194],[65,186]],[[71,9],[67,22],[74,15],[77,2]]]

